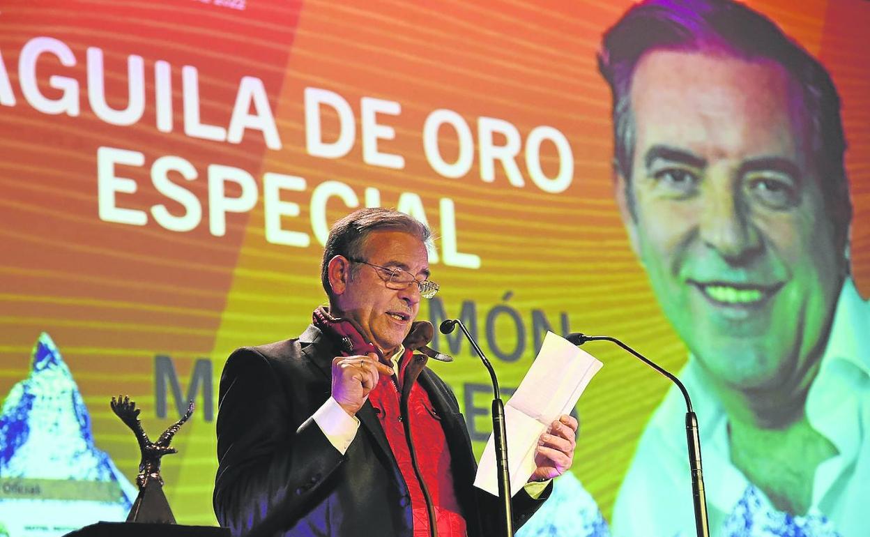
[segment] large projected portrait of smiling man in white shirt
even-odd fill
[[[690,359],[711,534],[857,536],[870,503],[870,310],[827,70],[743,4],[660,0],[604,37],[615,192]],[[614,507],[616,535],[694,534],[671,390]]]

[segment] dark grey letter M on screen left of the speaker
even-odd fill
[[[180,418],[187,412],[187,402],[197,399],[199,386],[203,388],[202,416],[205,421],[214,420],[214,401],[211,379],[211,360],[199,358],[193,365],[191,382],[187,386],[187,397],[181,396],[181,385],[178,383],[178,375],[175,364],[169,356],[157,355],[154,357],[154,397],[157,399],[157,418],[166,417],[166,392],[167,386],[172,391],[175,399],[175,409]],[[198,405],[198,404],[197,404]]]

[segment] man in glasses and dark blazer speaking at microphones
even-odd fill
[[[433,329],[415,322],[429,279],[425,225],[363,209],[325,245],[319,307],[298,339],[246,347],[224,366],[214,506],[233,535],[488,537],[498,499],[450,388],[425,367]],[[513,502],[519,527],[571,467],[577,421],[541,435]]]

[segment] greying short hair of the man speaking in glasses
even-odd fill
[[[417,219],[391,209],[380,207],[360,209],[339,219],[332,225],[329,238],[326,239],[324,257],[320,263],[320,281],[330,300],[332,299],[328,273],[330,259],[337,255],[345,258],[361,258],[365,239],[371,232],[378,231],[405,232],[419,238],[424,244],[432,238],[429,228]],[[351,275],[357,269],[358,267],[351,269]]]

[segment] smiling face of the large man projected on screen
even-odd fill
[[[632,245],[691,352],[741,389],[815,373],[844,273],[795,95],[779,65],[723,53],[653,50],[632,82]]]

